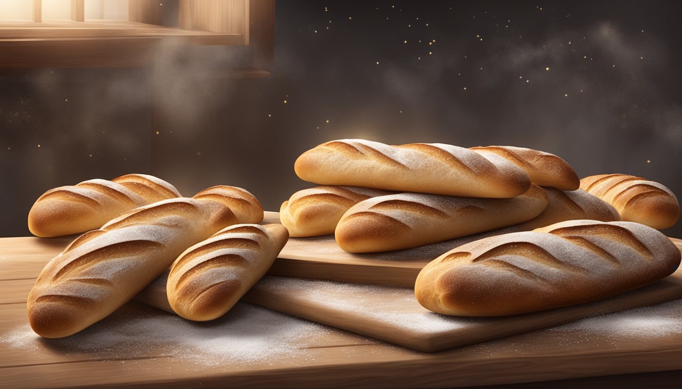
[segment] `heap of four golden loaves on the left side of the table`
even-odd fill
[[[254,224],[263,220],[263,207],[241,188],[220,185],[194,198],[179,196],[172,185],[143,174],[40,196],[29,225],[50,235],[99,229],[76,238],[40,273],[27,302],[33,330],[46,338],[83,330],[171,265],[168,299],[179,315],[211,320],[226,313],[275,260],[286,228]],[[134,208],[140,203],[150,204]]]

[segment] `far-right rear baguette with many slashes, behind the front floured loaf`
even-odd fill
[[[662,184],[627,174],[599,174],[580,180],[580,189],[608,202],[625,221],[672,227],[680,217],[674,193]]]

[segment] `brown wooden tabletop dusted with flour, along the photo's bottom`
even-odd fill
[[[681,377],[682,300],[436,353],[246,302],[208,324],[129,302],[72,337],[42,339],[27,324],[25,301],[44,264],[68,242],[0,238],[3,388],[447,388],[603,375],[627,388],[679,384]],[[662,373],[625,375],[655,371]]]

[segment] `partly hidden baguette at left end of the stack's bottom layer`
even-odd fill
[[[339,220],[351,206],[391,193],[394,192],[331,185],[303,189],[282,203],[280,221],[293,237],[333,234]]]

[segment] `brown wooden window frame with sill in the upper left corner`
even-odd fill
[[[161,40],[248,46],[246,77],[267,77],[274,63],[275,0],[179,0],[178,27],[163,26],[160,1],[130,0],[128,20],[85,20],[85,1],[71,0],[71,20],[0,22],[0,69],[146,67]],[[236,15],[235,15],[236,14]]]

